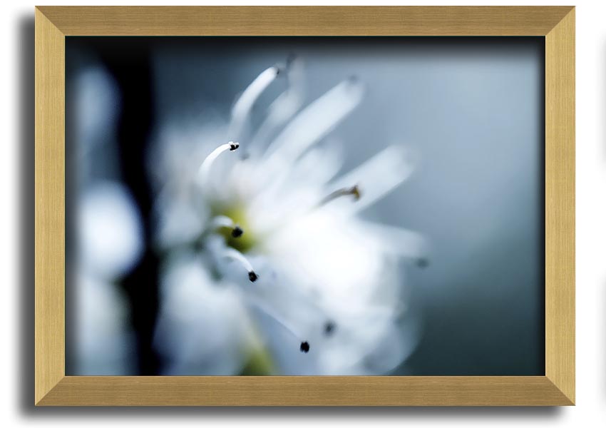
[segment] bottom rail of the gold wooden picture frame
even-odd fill
[[[65,377],[43,405],[540,406],[569,404],[537,377]]]

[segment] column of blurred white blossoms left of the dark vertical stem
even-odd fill
[[[134,335],[128,303],[117,282],[143,253],[143,226],[128,189],[101,174],[115,159],[118,88],[101,66],[85,68],[73,84],[73,138],[81,180],[75,203],[73,319],[68,325],[75,335],[70,374],[132,374]],[[97,148],[103,156],[95,152]],[[93,166],[101,173],[93,173]]]

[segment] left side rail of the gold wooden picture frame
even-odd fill
[[[65,303],[65,43],[36,11],[35,382],[38,402],[64,375]]]

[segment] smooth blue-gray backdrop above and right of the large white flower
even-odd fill
[[[68,38],[68,77],[103,44],[120,46]],[[431,245],[428,267],[407,272],[422,335],[398,374],[544,373],[543,39],[140,38],[120,49],[139,45],[158,123],[208,106],[227,116],[290,54],[304,60],[308,101],[357,76],[364,101],[332,134],[344,169],[390,143],[414,150],[414,174],[366,215]]]

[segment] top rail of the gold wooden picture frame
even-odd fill
[[[66,36],[545,36],[569,6],[40,6]]]

